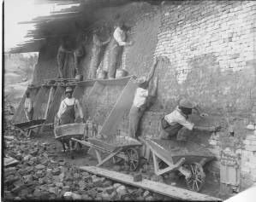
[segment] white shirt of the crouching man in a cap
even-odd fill
[[[188,130],[193,130],[193,123],[188,121],[188,118],[185,114],[182,113],[182,111],[176,107],[176,110],[172,113],[167,114],[164,116],[164,119],[170,124],[182,124],[185,128]]]

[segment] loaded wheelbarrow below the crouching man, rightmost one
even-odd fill
[[[179,170],[185,176],[188,189],[194,192],[200,191],[205,183],[203,166],[215,158],[211,152],[194,142],[153,139],[141,139],[141,141],[146,143],[152,152],[156,175]]]

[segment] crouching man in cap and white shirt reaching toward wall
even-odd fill
[[[198,105],[183,98],[179,101],[179,105],[172,113],[167,114],[162,118],[161,124],[164,131],[162,131],[160,138],[170,139],[172,136],[176,136],[178,141],[186,141],[188,133],[191,130],[214,132],[220,129],[219,126],[205,127],[191,123],[188,120],[188,115],[192,114],[193,110],[195,110],[200,117],[208,116],[206,113],[200,113],[201,109]]]

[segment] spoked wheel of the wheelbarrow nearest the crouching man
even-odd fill
[[[205,172],[199,163],[187,164],[191,176],[186,179],[187,186],[194,192],[199,192],[205,183]]]

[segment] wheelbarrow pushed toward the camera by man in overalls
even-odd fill
[[[54,136],[57,141],[63,143],[63,151],[65,152],[65,145],[69,147],[70,156],[74,159],[74,150],[78,150],[81,145],[76,141],[72,141],[72,138],[78,140],[86,140],[86,124],[74,123],[74,124],[63,124],[55,126]]]

